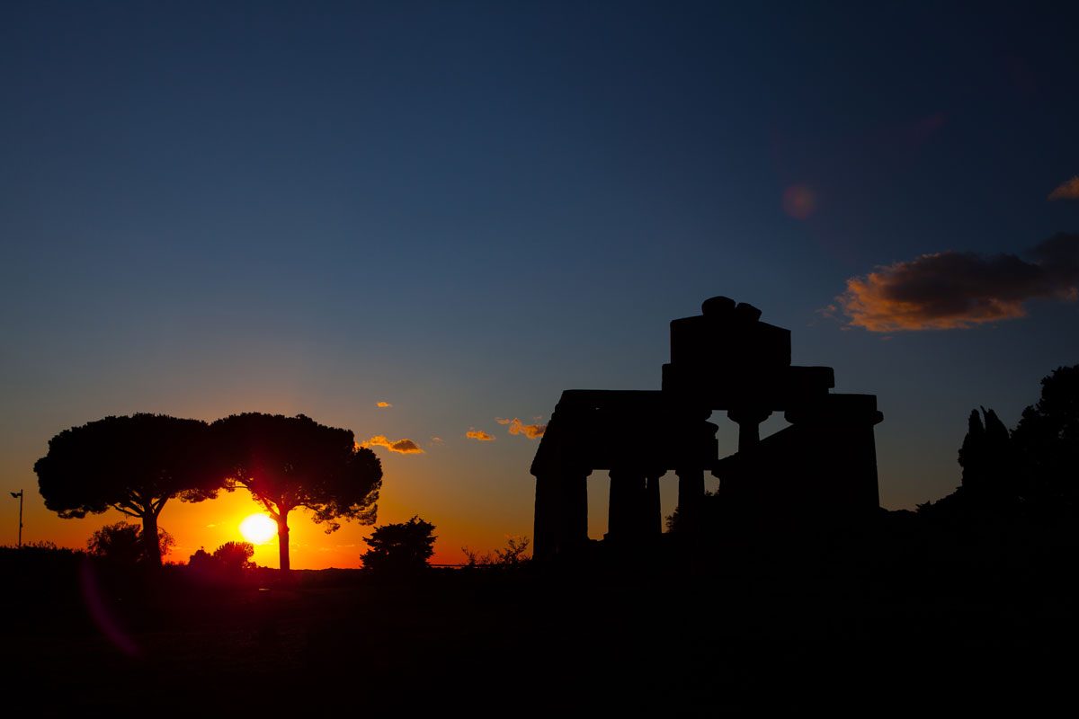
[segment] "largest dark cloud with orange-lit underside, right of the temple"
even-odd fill
[[[923,254],[848,279],[836,303],[850,327],[896,332],[968,328],[1024,317],[1028,300],[1079,298],[1079,234],[1054,235],[1024,255]]]

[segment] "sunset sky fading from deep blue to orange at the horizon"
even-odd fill
[[[669,321],[719,294],[877,396],[883,506],[938,499],[972,409],[1014,426],[1079,362],[1077,14],[2,3],[0,481],[26,489],[23,539],[122,518],[44,508],[57,432],[272,412],[370,443],[379,523],[432,522],[436,561],[501,548],[531,535],[560,392],[658,389]],[[170,501],[168,558],[257,511]],[[298,568],[358,566],[371,530],[290,526]]]

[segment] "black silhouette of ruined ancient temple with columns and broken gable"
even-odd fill
[[[868,516],[878,508],[873,395],[832,392],[832,368],[791,364],[791,333],[761,310],[712,298],[671,322],[671,361],[658,390],[568,389],[532,461],[534,556],[588,542],[589,475],[611,478],[605,541],[637,545],[663,531],[659,478],[678,475],[680,528],[700,528],[705,472],[720,479],[724,516],[782,531]],[[738,452],[719,457],[713,411],[738,424]],[[783,412],[789,427],[760,425]]]

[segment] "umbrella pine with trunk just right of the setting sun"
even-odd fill
[[[373,524],[382,464],[347,429],[310,417],[260,413],[210,425],[215,474],[224,488],[245,487],[277,523],[281,568],[288,571],[288,514],[310,510],[330,534],[339,520]]]

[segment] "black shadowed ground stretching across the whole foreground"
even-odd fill
[[[31,716],[455,708],[705,714],[1073,706],[1076,554],[955,537],[378,578],[2,555],[2,685]],[[1011,549],[1008,549],[1008,548]]]

